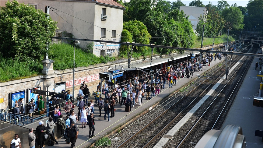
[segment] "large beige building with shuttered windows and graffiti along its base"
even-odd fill
[[[7,0],[1,0],[0,6],[5,6]],[[50,16],[57,21],[57,27],[67,35],[75,38],[121,41],[124,6],[113,0],[17,0],[42,9],[50,6]],[[57,9],[57,10],[56,10]],[[55,13],[56,12],[56,13]],[[64,20],[65,19],[65,20]],[[56,32],[57,36],[61,32]],[[71,36],[72,36],[71,35]],[[62,37],[67,37],[63,36]],[[85,48],[90,42],[80,41],[79,46]],[[117,56],[120,44],[94,42],[94,55]]]

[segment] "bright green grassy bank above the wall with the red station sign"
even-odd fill
[[[86,49],[86,51],[88,51],[88,49]],[[55,61],[53,64],[54,70],[73,68],[74,46],[65,43],[52,44],[49,47],[48,53],[49,58]],[[75,47],[75,67],[86,67],[114,60],[114,57],[97,57],[92,53],[83,51],[79,46]]]

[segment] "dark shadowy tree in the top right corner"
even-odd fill
[[[248,15],[244,18],[246,27],[263,28],[263,1],[261,0],[250,0],[247,4]]]

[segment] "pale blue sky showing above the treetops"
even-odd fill
[[[170,2],[176,2],[177,0],[169,0]],[[192,2],[193,0],[181,0],[186,6],[189,6],[189,3]],[[212,3],[212,5],[217,5],[216,0],[201,0],[204,5],[209,4],[209,1]],[[232,4],[237,3],[237,6],[242,6],[242,7],[247,7],[248,1],[245,0],[226,0],[226,2],[231,6]]]

